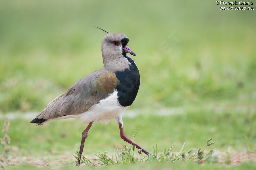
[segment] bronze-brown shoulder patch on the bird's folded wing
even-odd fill
[[[99,90],[100,93],[107,92],[110,93],[116,88],[117,85],[117,78],[116,74],[113,72],[109,72],[103,74],[102,77],[99,79]]]

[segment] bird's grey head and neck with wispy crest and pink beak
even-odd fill
[[[127,60],[127,57],[129,56],[126,54],[130,53],[131,55],[136,56],[136,54],[127,46],[129,39],[123,33],[105,32],[107,34],[103,37],[101,42],[104,67],[112,71],[124,70],[130,64]]]

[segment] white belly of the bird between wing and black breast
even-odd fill
[[[83,122],[109,122],[111,119],[122,117],[123,112],[129,106],[121,106],[117,99],[117,90],[111,93],[107,98],[93,105],[88,111],[76,115]]]

